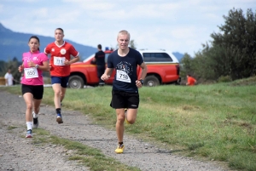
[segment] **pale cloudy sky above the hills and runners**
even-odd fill
[[[127,30],[137,49],[194,56],[233,8],[255,14],[256,0],[0,0],[0,22],[49,37],[61,27],[65,38],[95,48],[115,48],[117,33]]]

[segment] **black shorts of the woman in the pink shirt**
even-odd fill
[[[26,93],[33,94],[35,100],[42,100],[44,94],[44,85],[26,85],[22,84],[21,87],[22,95]]]

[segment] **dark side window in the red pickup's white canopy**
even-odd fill
[[[166,53],[143,53],[145,62],[172,62],[172,58]]]

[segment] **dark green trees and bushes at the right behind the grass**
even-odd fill
[[[224,16],[220,32],[202,44],[195,57],[184,54],[181,77],[191,74],[201,81],[231,81],[252,77],[256,73],[256,14],[247,9],[231,9]]]

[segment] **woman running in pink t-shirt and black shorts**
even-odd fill
[[[33,128],[38,128],[38,112],[44,94],[43,71],[49,71],[48,58],[46,54],[39,52],[39,45],[38,37],[30,37],[30,51],[23,54],[23,63],[19,66],[19,71],[24,71],[21,90],[26,102],[26,138],[32,138],[32,123]]]

